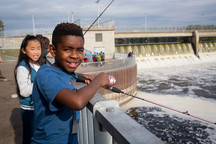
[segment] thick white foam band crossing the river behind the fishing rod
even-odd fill
[[[216,122],[216,100],[212,99],[203,99],[197,97],[180,97],[176,95],[159,95],[159,94],[149,94],[145,92],[138,92],[137,97],[144,98],[148,101],[155,102],[160,105],[173,108],[175,110],[186,112],[189,114],[206,119],[211,122]],[[157,107],[157,105],[152,104],[147,101],[142,101],[134,98],[127,105],[122,106],[121,108],[125,111],[131,107]],[[160,107],[160,106],[159,106]],[[184,117],[187,119],[194,119],[190,116],[172,111],[167,108],[161,107],[164,111],[171,115],[177,115],[178,117]],[[205,121],[200,121],[202,123],[207,123]],[[216,134],[216,133],[215,133]]]

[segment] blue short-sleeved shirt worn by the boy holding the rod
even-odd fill
[[[33,86],[35,130],[32,143],[67,144],[72,143],[73,110],[54,102],[63,89],[75,90],[71,79],[76,73],[65,73],[53,66],[43,65],[37,72]],[[79,119],[79,112],[76,112]]]

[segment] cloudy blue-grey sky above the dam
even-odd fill
[[[112,0],[100,0],[100,12]],[[0,20],[5,30],[54,28],[60,22],[88,19],[98,15],[96,0],[0,0]],[[146,17],[145,17],[146,16]],[[115,0],[101,16],[118,26],[216,25],[216,0]]]

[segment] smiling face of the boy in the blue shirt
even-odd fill
[[[84,40],[80,36],[65,35],[61,37],[57,48],[53,47],[55,55],[54,67],[65,72],[74,72],[83,61]]]

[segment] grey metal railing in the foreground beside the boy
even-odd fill
[[[76,83],[77,89],[85,86]],[[80,144],[162,144],[146,128],[124,113],[115,100],[106,100],[96,93],[80,112]]]

